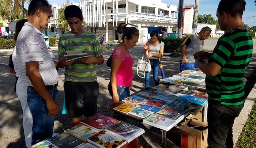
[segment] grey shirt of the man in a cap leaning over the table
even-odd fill
[[[203,49],[204,40],[201,40],[197,33],[191,33],[185,37],[181,45],[186,47],[187,62],[195,62],[193,55]],[[182,56],[180,59],[182,60]]]

